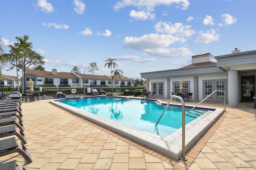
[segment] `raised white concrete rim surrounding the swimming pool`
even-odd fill
[[[87,98],[87,97],[84,97]],[[90,97],[91,100],[93,97]],[[97,98],[97,97],[96,97]],[[127,98],[128,97],[119,97]],[[134,97],[130,97],[130,99],[136,99]],[[70,103],[75,103],[74,99],[64,99],[69,100]],[[71,105],[66,105],[61,103],[62,100],[50,101],[53,105],[56,105],[70,113],[82,117],[88,121],[96,123],[104,128],[112,130],[122,136],[130,138],[135,142],[138,142],[148,148],[154,149],[166,156],[170,156],[176,160],[179,160],[182,155],[182,128],[178,128],[171,134],[167,136],[159,136],[156,134],[152,134],[150,132],[146,132],[144,130],[140,130],[138,128],[134,128],[123,123],[113,121],[111,119],[104,118],[102,116],[98,116],[96,114],[90,113],[88,111],[84,111],[82,109],[78,109]],[[146,100],[141,100],[142,102]],[[153,100],[160,105],[166,106],[166,103],[163,103],[160,100]],[[92,108],[93,109],[93,108]],[[130,108],[129,108],[130,109]],[[202,108],[206,109],[207,108]],[[189,150],[191,146],[206,132],[208,128],[210,128],[213,123],[224,113],[223,109],[212,109],[214,111],[207,111],[202,116],[197,117],[196,119],[190,121],[185,126],[185,152]],[[166,111],[168,113],[168,111]],[[165,114],[166,114],[165,113]]]

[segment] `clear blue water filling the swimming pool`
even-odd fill
[[[156,122],[166,105],[158,105],[150,100],[115,99],[88,97],[64,99],[59,102],[160,136],[166,136],[182,127],[182,107],[169,106],[156,129]],[[185,113],[189,110],[190,108],[186,108]],[[192,120],[194,120],[193,117],[186,115],[185,123]]]

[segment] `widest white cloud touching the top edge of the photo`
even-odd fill
[[[166,5],[170,6],[171,4],[178,4],[178,8],[182,6],[181,8],[183,10],[187,9],[190,5],[188,0],[122,0],[116,2],[114,5],[114,10],[119,11],[122,8],[125,8],[126,6],[134,6],[138,10],[131,10],[130,16],[136,20],[154,20],[156,14],[152,14],[154,12],[154,8],[156,6],[160,5]],[[163,14],[165,15],[166,12]],[[167,14],[166,14],[167,15]],[[165,16],[166,16],[165,15]]]

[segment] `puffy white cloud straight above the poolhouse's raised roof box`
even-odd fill
[[[208,30],[206,33],[200,32],[200,36],[196,39],[195,43],[208,44],[210,42],[215,42],[220,39],[220,35],[215,33],[215,30]]]

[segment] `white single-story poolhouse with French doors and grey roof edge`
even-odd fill
[[[224,90],[229,107],[238,107],[238,102],[250,101],[254,95],[256,50],[241,52],[235,48],[232,53],[219,56],[199,53],[185,67],[140,74],[148,79],[149,91],[155,92],[156,97],[170,98],[172,93],[180,93],[182,77],[183,92],[193,93],[193,100],[201,101],[215,90]],[[224,101],[224,93],[214,93],[207,100]]]

